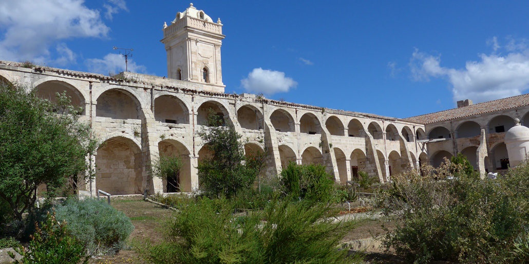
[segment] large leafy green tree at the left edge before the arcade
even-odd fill
[[[34,90],[0,84],[0,199],[16,220],[33,211],[40,185],[52,197],[69,177],[86,171],[86,155],[97,144],[80,113],[65,93],[51,103]]]

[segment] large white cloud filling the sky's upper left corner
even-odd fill
[[[99,12],[86,7],[83,0],[0,2],[0,58],[4,60],[53,61],[50,46],[55,43],[76,37],[105,37],[109,30]],[[57,46],[59,53],[71,52],[61,45]]]

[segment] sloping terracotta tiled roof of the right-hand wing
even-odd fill
[[[476,103],[476,105],[464,106],[460,108],[454,108],[444,110],[440,112],[434,112],[432,114],[426,114],[422,116],[414,116],[404,118],[406,121],[417,122],[419,124],[432,124],[435,122],[441,122],[456,118],[475,116],[488,112],[494,112],[499,110],[507,110],[521,106],[529,105],[529,93],[521,96],[513,96],[504,99],[498,99],[494,101]]]

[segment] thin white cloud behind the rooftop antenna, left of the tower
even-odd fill
[[[125,59],[120,54],[108,53],[103,59],[87,59],[86,66],[90,72],[101,74],[116,74],[125,71]],[[128,69],[131,72],[145,73],[147,68],[138,65],[129,58]]]

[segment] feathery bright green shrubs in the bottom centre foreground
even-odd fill
[[[346,263],[338,245],[353,222],[335,222],[322,203],[272,199],[262,211],[233,214],[226,199],[199,199],[175,215],[167,241],[143,255],[154,263]]]

